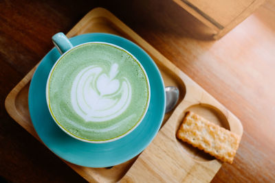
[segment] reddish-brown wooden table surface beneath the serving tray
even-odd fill
[[[220,40],[171,0],[0,1],[0,182],[85,182],[18,125],[4,108],[10,90],[68,32],[101,6],[239,117],[233,164],[212,182],[275,182],[275,0]]]

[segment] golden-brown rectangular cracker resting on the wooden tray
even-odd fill
[[[193,112],[186,112],[177,131],[177,138],[222,160],[233,162],[241,138]]]

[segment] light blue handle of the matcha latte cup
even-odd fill
[[[59,53],[61,53],[61,55],[74,47],[72,42],[69,41],[63,32],[54,34],[54,36],[52,36],[52,42],[54,42],[54,46],[59,51]]]

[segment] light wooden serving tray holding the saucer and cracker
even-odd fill
[[[162,129],[140,156],[111,169],[80,167],[65,161],[69,167],[89,182],[210,182],[222,162],[178,141],[175,136],[177,127],[185,112],[191,110],[241,136],[243,127],[239,119],[111,12],[103,8],[91,10],[67,36],[89,32],[117,34],[140,45],[159,67],[165,85],[179,88],[180,97],[175,110],[165,115]],[[12,89],[5,99],[5,108],[17,123],[40,141],[28,110],[28,90],[36,66]]]

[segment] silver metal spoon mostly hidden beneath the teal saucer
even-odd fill
[[[166,86],[165,95],[166,95],[165,113],[167,113],[173,110],[173,108],[175,108],[175,105],[179,100],[179,89],[175,86]],[[111,169],[111,168],[113,167],[105,167],[105,169]]]

